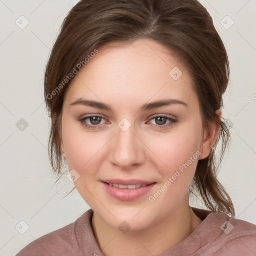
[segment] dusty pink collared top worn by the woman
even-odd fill
[[[161,256],[256,255],[256,225],[225,213],[192,209],[201,224]],[[104,256],[93,233],[92,215],[89,209],[75,222],[32,241],[16,256]]]

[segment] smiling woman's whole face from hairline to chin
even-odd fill
[[[199,102],[188,70],[161,44],[98,50],[66,91],[61,145],[94,212],[112,227],[142,229],[188,203],[208,156]],[[163,100],[172,103],[155,103]]]

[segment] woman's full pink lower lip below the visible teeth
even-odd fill
[[[129,188],[117,188],[114,186],[110,186],[105,182],[102,182],[107,193],[113,196],[116,199],[122,200],[122,201],[133,201],[139,198],[142,195],[145,195],[148,193],[156,183],[139,187],[139,188],[134,188],[134,189],[129,189]]]

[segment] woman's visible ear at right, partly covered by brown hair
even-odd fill
[[[216,115],[217,118],[221,120],[222,112],[220,109],[216,111]],[[219,133],[220,126],[215,121],[210,122],[208,126],[209,131],[207,131],[205,128],[203,132],[203,139],[200,148],[201,154],[199,156],[199,160],[205,159],[209,156],[211,148],[215,145]]]

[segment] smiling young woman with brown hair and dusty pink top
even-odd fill
[[[78,2],[47,64],[45,101],[53,170],[61,177],[66,161],[91,209],[17,255],[255,255],[256,225],[234,218],[216,177],[228,78],[198,1]],[[190,207],[196,190],[209,210]]]

